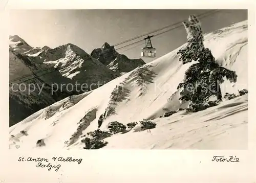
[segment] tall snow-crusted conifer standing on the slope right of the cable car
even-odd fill
[[[208,48],[204,47],[201,22],[190,15],[183,25],[187,32],[186,47],[178,51],[183,64],[197,61],[185,72],[185,79],[178,85],[181,88],[180,100],[203,103],[211,96],[222,100],[220,84],[226,77],[230,82],[237,81],[236,72],[221,67]]]

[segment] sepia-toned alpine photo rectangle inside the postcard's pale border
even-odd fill
[[[10,10],[9,149],[248,149],[247,19]]]

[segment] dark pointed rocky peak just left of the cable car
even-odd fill
[[[134,68],[145,64],[141,58],[129,59],[125,55],[119,54],[115,48],[111,47],[107,42],[105,42],[101,48],[94,49],[91,56],[119,74],[130,72],[134,70]]]

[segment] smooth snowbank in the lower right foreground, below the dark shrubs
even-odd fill
[[[247,149],[247,111],[247,95],[196,113],[183,110],[152,120],[157,128],[151,132],[128,132],[106,138],[109,144],[103,148]]]

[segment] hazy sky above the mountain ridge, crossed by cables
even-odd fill
[[[100,48],[104,42],[114,45],[181,22],[190,14],[199,15],[207,11],[210,10],[11,10],[9,31],[10,35],[20,36],[32,47],[47,45],[56,48],[62,44],[73,43],[91,54],[93,49]],[[200,21],[203,33],[208,33],[246,19],[247,10],[220,10]],[[185,42],[184,27],[152,38],[153,47],[156,48],[156,58],[175,50]],[[115,48],[129,43],[132,42]],[[138,47],[132,48],[135,45]],[[118,52],[129,58],[140,58],[141,48],[144,45],[142,41]],[[143,60],[150,62],[154,59],[143,58]]]

